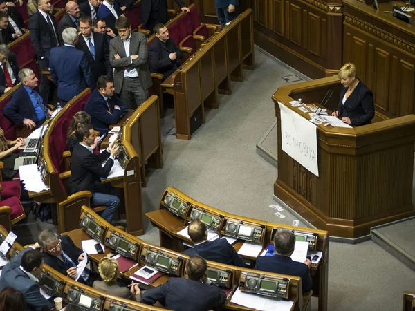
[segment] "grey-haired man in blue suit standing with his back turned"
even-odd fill
[[[77,30],[66,28],[62,38],[65,45],[50,51],[50,77],[57,85],[57,95],[66,104],[86,87],[95,89],[95,80],[85,53],[75,48]]]

